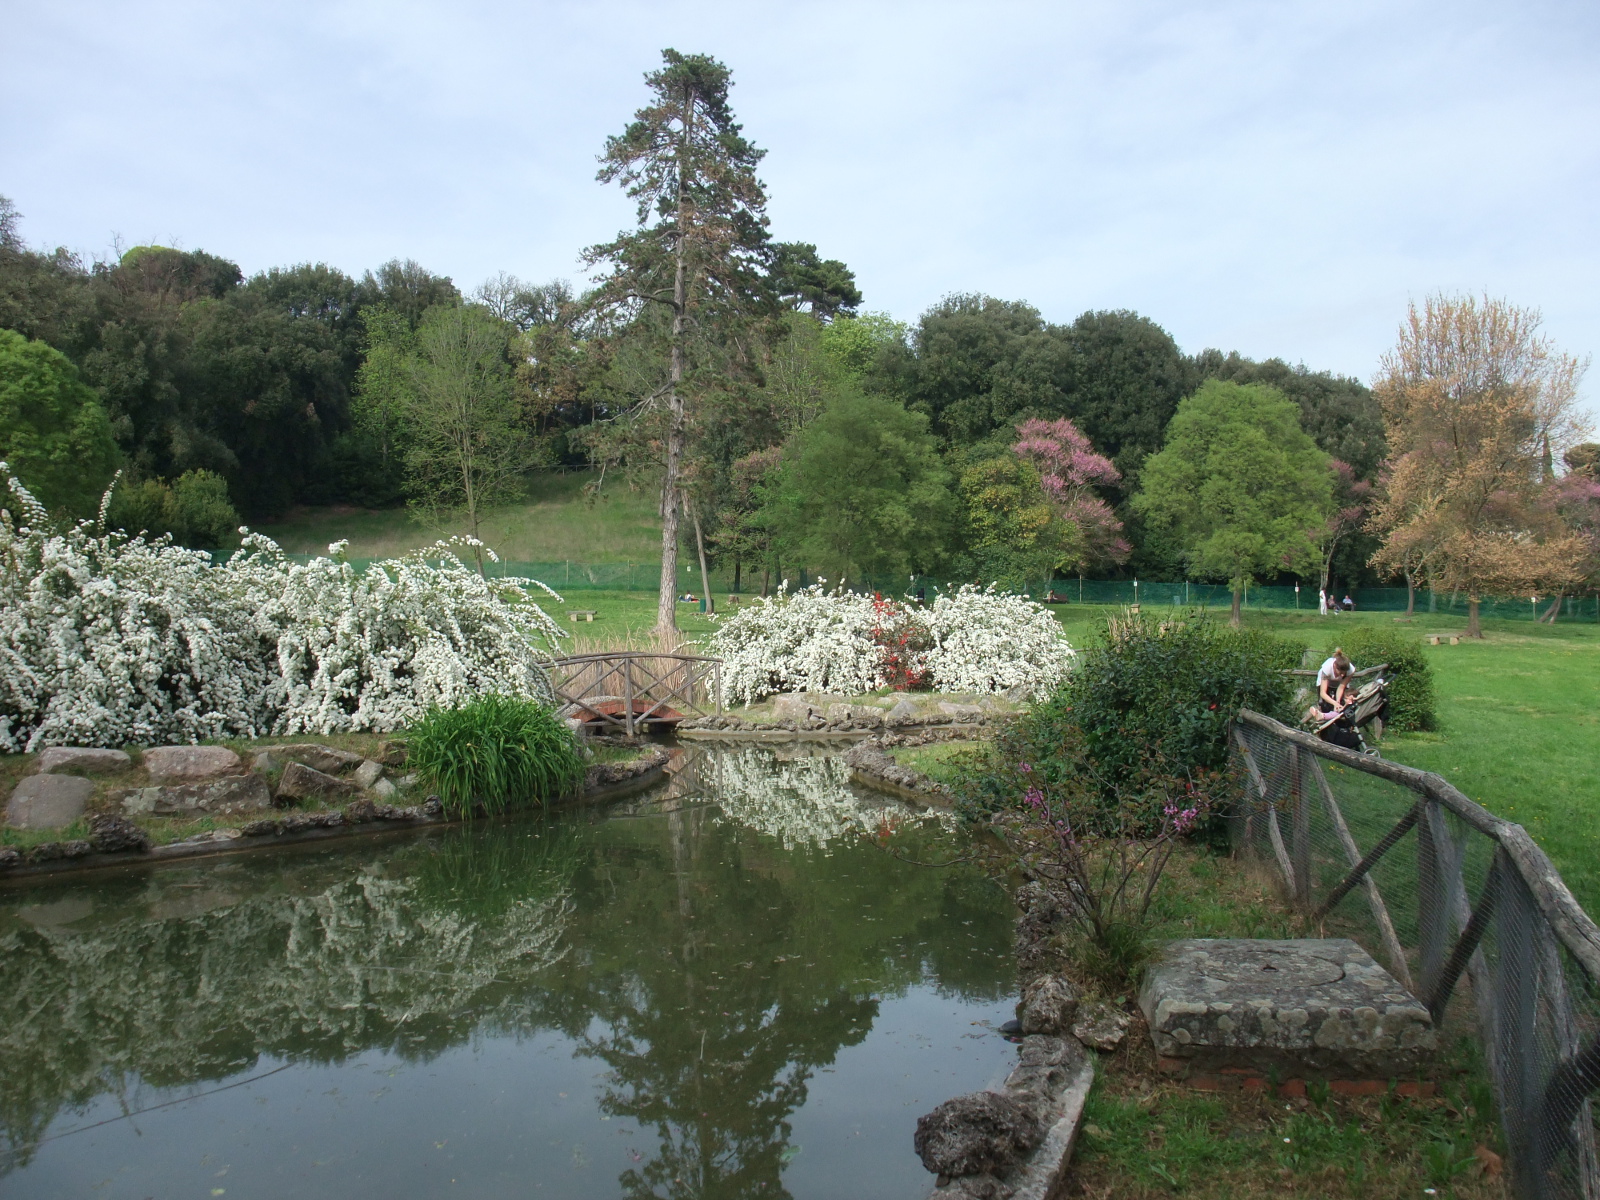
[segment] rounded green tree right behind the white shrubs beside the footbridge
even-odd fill
[[[835,579],[923,568],[942,550],[949,483],[925,416],[842,395],[786,446],[782,541]]]

